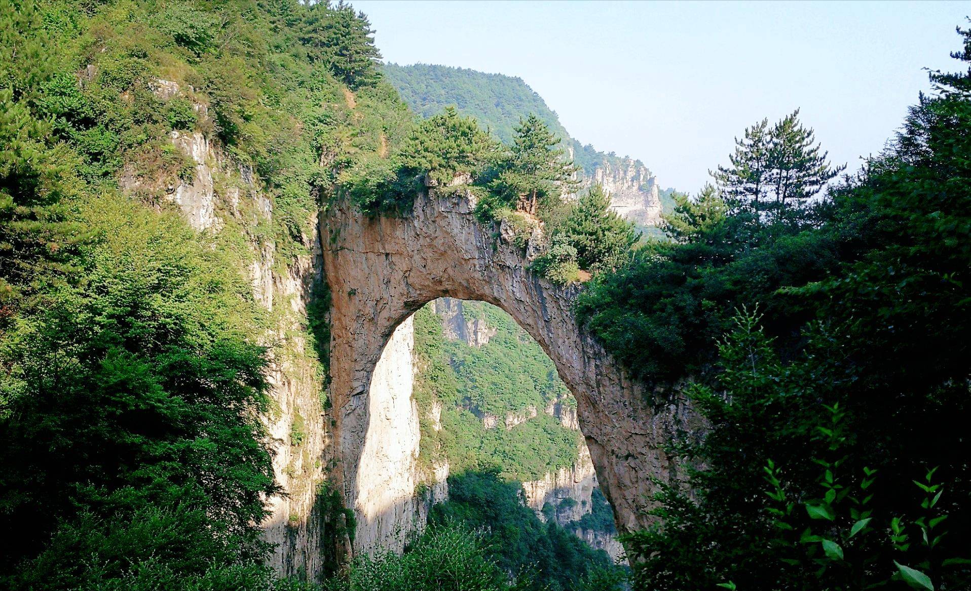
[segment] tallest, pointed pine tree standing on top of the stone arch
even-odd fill
[[[510,206],[535,215],[541,202],[576,187],[579,167],[563,158],[564,150],[556,148],[559,142],[536,115],[519,119],[516,141],[494,186]]]

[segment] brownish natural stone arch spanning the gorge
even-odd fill
[[[367,217],[348,203],[321,217],[331,289],[331,397],[336,476],[348,507],[369,421],[372,375],[395,329],[439,297],[508,312],[553,361],[577,399],[578,418],[620,532],[650,521],[654,477],[668,478],[663,445],[692,413],[683,398],[648,391],[577,322],[577,287],[528,270],[506,224],[482,224],[464,191],[420,194],[404,216]]]

